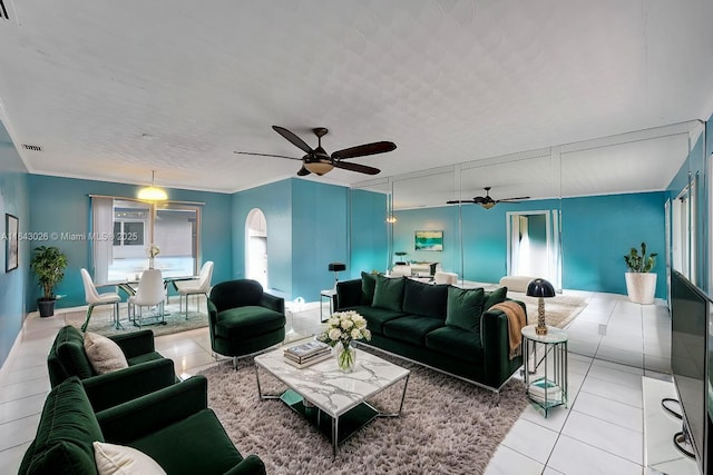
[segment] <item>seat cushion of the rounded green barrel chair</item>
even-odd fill
[[[229,308],[217,315],[215,336],[232,340],[250,339],[285,326],[285,316],[261,306]]]

